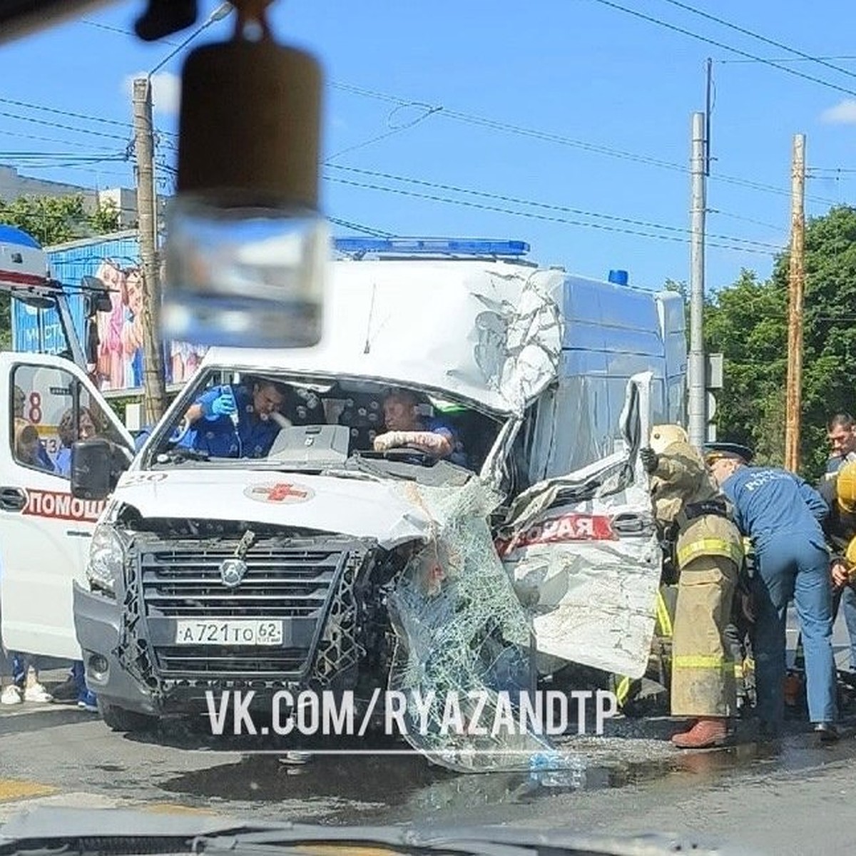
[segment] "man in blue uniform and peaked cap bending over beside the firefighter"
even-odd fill
[[[829,552],[821,524],[829,507],[817,490],[777,467],[749,467],[752,452],[710,443],[707,460],[734,522],[752,539],[756,621],[752,639],[762,733],[776,736],[784,719],[785,629],[794,597],[805,648],[809,718],[821,740],[837,740],[835,657]]]

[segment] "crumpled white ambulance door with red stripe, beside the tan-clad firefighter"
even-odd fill
[[[639,461],[650,422],[648,372],[631,378],[624,449],[514,502],[497,540],[542,654],[636,678],[654,633],[661,552]]]

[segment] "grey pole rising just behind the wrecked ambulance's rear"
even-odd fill
[[[692,175],[692,204],[690,206],[690,354],[687,363],[687,433],[690,443],[699,449],[707,440],[707,396],[704,383],[704,212],[705,194],[705,140],[704,113],[693,113],[693,154],[690,161]]]

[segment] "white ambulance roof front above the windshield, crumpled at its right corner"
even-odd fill
[[[556,378],[565,274],[454,260],[336,261],[314,348],[211,348],[205,365],[360,377],[522,413]]]

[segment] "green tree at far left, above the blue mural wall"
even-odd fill
[[[0,199],[0,223],[23,229],[42,245],[106,235],[119,228],[116,205],[98,205],[86,211],[82,194],[76,196],[21,196],[14,202]],[[0,348],[12,345],[9,294],[0,293]]]

